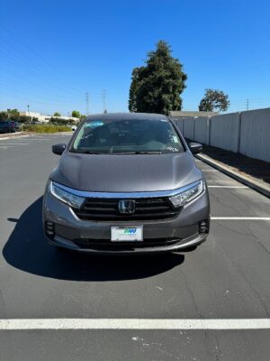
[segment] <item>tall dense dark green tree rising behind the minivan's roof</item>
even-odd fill
[[[171,55],[167,42],[157,42],[157,49],[149,51],[146,65],[132,71],[129,109],[131,112],[168,114],[181,110],[180,94],[185,88],[183,65]]]

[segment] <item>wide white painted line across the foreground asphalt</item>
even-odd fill
[[[14,329],[270,329],[270,319],[0,319]]]

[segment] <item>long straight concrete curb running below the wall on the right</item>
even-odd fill
[[[262,186],[257,181],[249,180],[247,177],[240,175],[237,171],[232,171],[231,169],[229,169],[229,167],[226,167],[225,165],[221,165],[219,162],[213,161],[210,157],[207,157],[206,155],[197,154],[197,155],[195,155],[195,157],[197,159],[199,159],[200,161],[211,165],[213,168],[216,168],[217,170],[221,171],[222,173],[229,175],[229,177],[231,177],[235,180],[238,180],[240,183],[245,184],[246,186],[252,188],[253,190],[257,190],[257,192],[270,198],[270,190],[268,190],[266,187]]]

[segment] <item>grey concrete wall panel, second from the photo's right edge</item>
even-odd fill
[[[211,117],[210,145],[238,153],[240,113]]]

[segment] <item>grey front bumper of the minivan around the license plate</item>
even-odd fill
[[[199,232],[203,220],[209,222],[208,192],[184,206],[174,218],[144,221],[85,221],[76,217],[67,204],[46,191],[43,225],[53,224],[54,233],[45,236],[52,245],[92,254],[148,254],[184,251],[201,244],[207,233]],[[111,226],[143,226],[142,242],[111,242]]]

